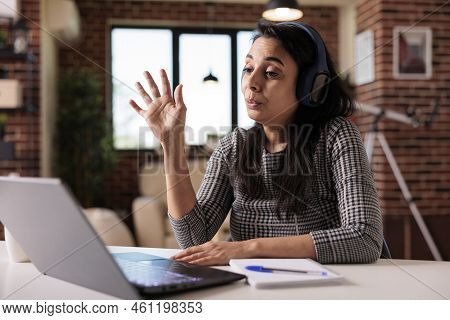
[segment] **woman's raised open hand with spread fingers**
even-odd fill
[[[166,71],[161,70],[160,74],[162,94],[148,71],[144,72],[144,76],[152,96],[145,91],[140,82],[136,83],[136,88],[144,99],[147,110],[139,107],[134,100],[130,100],[130,105],[145,119],[153,134],[164,145],[169,142],[171,135],[183,134],[186,123],[186,106],[183,101],[182,85],[176,87],[174,100]]]

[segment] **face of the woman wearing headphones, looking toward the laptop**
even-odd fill
[[[263,125],[290,123],[298,105],[297,74],[297,64],[277,39],[256,39],[241,83],[249,117]]]

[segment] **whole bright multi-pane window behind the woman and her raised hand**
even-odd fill
[[[173,88],[184,85],[188,108],[186,143],[202,145],[208,135],[223,136],[239,125],[248,128],[240,82],[251,31],[215,29],[162,29],[113,27],[111,29],[111,88],[114,146],[116,149],[151,149],[159,142],[145,121],[129,106],[129,99],[143,101],[135,82],[145,82],[142,72],[155,75],[165,68]],[[208,85],[210,72],[218,83]]]

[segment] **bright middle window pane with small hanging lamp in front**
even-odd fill
[[[180,35],[180,82],[184,86],[186,142],[205,144],[208,134],[231,129],[231,37],[227,34]],[[210,72],[216,84],[205,84]],[[191,130],[192,129],[192,130]]]

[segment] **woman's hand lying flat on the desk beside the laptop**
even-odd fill
[[[171,259],[204,266],[227,265],[230,259],[251,258],[249,241],[209,241],[187,248]]]

